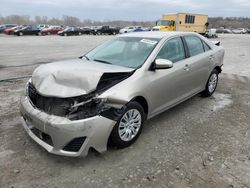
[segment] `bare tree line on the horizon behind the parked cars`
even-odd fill
[[[210,17],[208,19],[209,28],[250,28],[250,18],[247,17]],[[0,16],[0,24],[48,24],[48,25],[63,25],[63,26],[98,26],[110,25],[116,27],[125,27],[129,25],[139,25],[143,27],[155,26],[155,21],[93,21],[90,19],[80,20],[74,16],[64,15],[62,18],[48,18],[47,16],[30,17],[28,15],[9,15]]]

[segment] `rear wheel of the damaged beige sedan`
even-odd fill
[[[202,92],[202,95],[204,97],[210,97],[216,90],[217,84],[218,84],[218,75],[219,73],[216,69],[214,69],[212,73],[210,74],[207,84],[206,84],[206,88]]]

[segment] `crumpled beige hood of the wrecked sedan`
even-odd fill
[[[73,59],[39,66],[31,82],[38,93],[50,97],[75,97],[94,91],[103,73],[131,72],[134,69]]]

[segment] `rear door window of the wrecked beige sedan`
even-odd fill
[[[204,52],[201,39],[196,36],[185,37],[190,56],[195,56]]]

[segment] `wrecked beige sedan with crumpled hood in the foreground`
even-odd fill
[[[198,93],[211,96],[223,58],[221,46],[192,32],[123,34],[35,69],[20,101],[22,124],[53,154],[127,147],[145,120]]]

